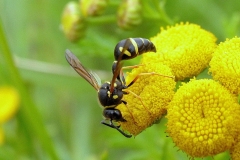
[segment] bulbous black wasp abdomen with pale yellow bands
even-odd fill
[[[146,52],[156,52],[154,44],[145,38],[128,38],[121,40],[114,49],[115,60],[132,59]]]

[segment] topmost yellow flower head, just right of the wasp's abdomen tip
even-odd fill
[[[180,23],[161,32],[151,41],[157,54],[143,55],[143,62],[154,59],[172,69],[177,80],[198,75],[208,66],[216,48],[216,37],[196,24]]]

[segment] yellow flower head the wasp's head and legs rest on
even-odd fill
[[[124,95],[124,101],[127,104],[117,106],[126,120],[126,122],[119,122],[122,129],[134,136],[166,113],[166,106],[173,97],[176,84],[170,68],[160,63],[149,63],[134,68],[131,73],[128,73],[127,84],[139,74],[144,73],[148,74],[139,76],[135,83],[125,90],[129,92]]]

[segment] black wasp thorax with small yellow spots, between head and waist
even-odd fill
[[[113,92],[110,92],[111,84],[109,82],[104,83],[98,91],[98,99],[102,106],[114,108],[116,105],[120,104],[123,97],[124,89],[121,82],[116,81],[114,84]]]

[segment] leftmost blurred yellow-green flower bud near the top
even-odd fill
[[[77,2],[69,2],[62,14],[61,29],[71,42],[84,36],[85,23]]]

